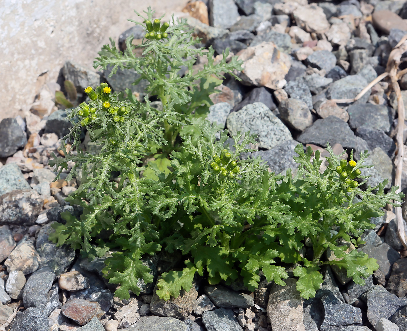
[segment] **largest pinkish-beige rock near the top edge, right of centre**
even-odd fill
[[[315,3],[298,6],[293,11],[293,18],[297,25],[307,32],[324,33],[330,26],[324,10]]]

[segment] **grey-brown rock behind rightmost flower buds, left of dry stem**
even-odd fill
[[[364,164],[374,165],[372,168],[361,169],[363,176],[370,176],[370,178],[368,178],[368,185],[376,186],[387,179],[389,182],[385,188],[389,189],[392,186],[393,162],[383,149],[380,147],[373,149],[372,153],[365,159]]]

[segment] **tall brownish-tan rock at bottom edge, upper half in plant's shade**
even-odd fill
[[[274,284],[270,290],[267,315],[273,331],[305,331],[303,322],[303,298],[295,285],[297,280],[288,278],[286,286]]]

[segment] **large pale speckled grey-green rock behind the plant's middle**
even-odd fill
[[[226,124],[232,134],[237,131],[241,134],[247,131],[258,134],[260,148],[270,149],[291,139],[289,129],[261,102],[247,105],[239,112],[232,112]]]

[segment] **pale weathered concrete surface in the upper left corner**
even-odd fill
[[[67,60],[92,68],[97,52],[137,20],[148,5],[171,14],[187,0],[0,0],[2,118],[24,117],[39,84],[55,82]],[[42,78],[38,77],[46,73]],[[37,79],[39,80],[37,82]],[[36,86],[37,85],[37,86]]]

